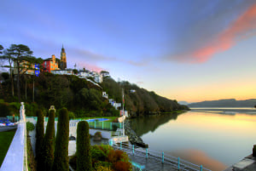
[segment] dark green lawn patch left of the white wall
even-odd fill
[[[9,145],[15,136],[15,132],[16,129],[0,133],[0,166],[2,165],[3,159],[9,149]]]

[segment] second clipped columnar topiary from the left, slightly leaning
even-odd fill
[[[49,120],[44,136],[43,145],[38,156],[38,170],[49,171],[54,160],[55,150],[55,111],[49,111]]]

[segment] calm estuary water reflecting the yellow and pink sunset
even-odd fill
[[[256,110],[197,108],[174,116],[136,118],[132,128],[149,149],[224,170],[252,154]]]

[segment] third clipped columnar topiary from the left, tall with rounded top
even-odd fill
[[[68,135],[69,118],[66,108],[59,111],[57,135],[55,140],[55,158],[52,166],[53,171],[68,171]]]

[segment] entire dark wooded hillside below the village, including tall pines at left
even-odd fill
[[[48,72],[40,73],[39,77],[27,75],[27,70],[34,70],[34,63],[43,62],[41,58],[32,56],[32,50],[22,44],[12,44],[6,49],[1,46],[0,49],[0,59],[8,63],[3,67],[9,68],[9,73],[2,73],[0,77],[0,98],[6,102],[32,103],[33,105],[26,106],[35,109],[41,107],[44,115],[47,115],[50,105],[55,105],[57,109],[67,107],[76,117],[118,116],[119,111],[109,104],[108,99],[102,97],[102,91],[108,93],[109,99],[121,103],[122,89],[125,92],[125,110],[130,111],[134,117],[189,109],[185,105],[179,105],[177,100],[168,100],[139,88],[136,84],[115,82],[111,77],[104,77],[103,83],[98,87],[77,76],[54,75]],[[25,60],[28,61],[26,66],[20,66]],[[15,75],[14,66],[18,71]],[[135,93],[131,93],[131,89]]]

